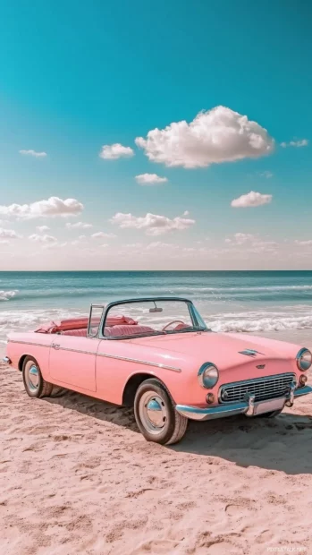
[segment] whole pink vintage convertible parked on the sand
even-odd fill
[[[162,444],[181,440],[189,419],[274,416],[312,392],[308,349],[214,333],[176,297],[94,304],[89,319],[12,333],[4,360],[30,397],[58,386],[134,406],[139,430]]]

